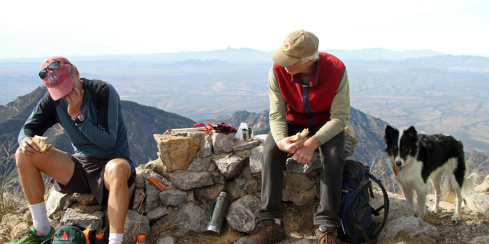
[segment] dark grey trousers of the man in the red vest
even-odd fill
[[[301,132],[304,127],[287,122],[289,136]],[[314,135],[322,125],[309,128],[309,135]],[[344,159],[342,158],[345,144],[344,131],[336,135],[321,146],[324,156],[321,165],[321,185],[319,208],[314,215],[314,224],[333,224],[341,226],[337,213],[340,211],[342,197],[342,181]],[[287,160],[287,153],[280,150],[270,132],[265,139],[262,156],[262,185],[261,203],[259,211],[260,220],[284,218],[282,206],[282,185],[284,183],[283,170]]]

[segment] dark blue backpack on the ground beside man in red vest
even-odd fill
[[[374,198],[370,180],[380,186],[384,195],[384,205],[377,209],[369,203],[370,197]],[[379,216],[382,209],[384,220],[373,220],[372,215]],[[343,231],[338,231],[338,238],[346,243],[376,243],[377,236],[386,224],[388,212],[389,199],[386,189],[370,174],[369,167],[355,160],[346,160],[343,170],[342,204],[338,213]]]

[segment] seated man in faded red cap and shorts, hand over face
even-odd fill
[[[98,79],[80,79],[78,69],[61,56],[41,64],[39,77],[48,93],[38,102],[20,130],[15,162],[31,209],[33,227],[12,243],[41,243],[54,234],[44,202],[41,172],[62,193],[92,192],[107,208],[109,243],[122,243],[129,207],[129,186],[136,171],[129,158],[126,122],[119,94]],[[71,139],[75,154],[51,148],[41,152],[33,141],[59,123]]]

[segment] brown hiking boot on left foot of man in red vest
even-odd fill
[[[268,244],[284,241],[285,227],[275,223],[275,220],[261,220],[255,227],[253,235],[249,236],[245,244]]]

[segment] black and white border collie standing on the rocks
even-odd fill
[[[399,130],[387,125],[384,139],[386,152],[394,173],[393,179],[404,192],[409,216],[414,215],[413,192],[416,192],[418,208],[417,217],[423,218],[425,201],[428,194],[428,181],[435,188],[435,206],[432,211],[439,211],[440,181],[447,173],[448,182],[455,191],[455,213],[452,221],[460,220],[462,193],[472,190],[476,183],[476,174],[465,176],[465,159],[462,142],[450,135],[418,134],[414,126],[400,134]]]

